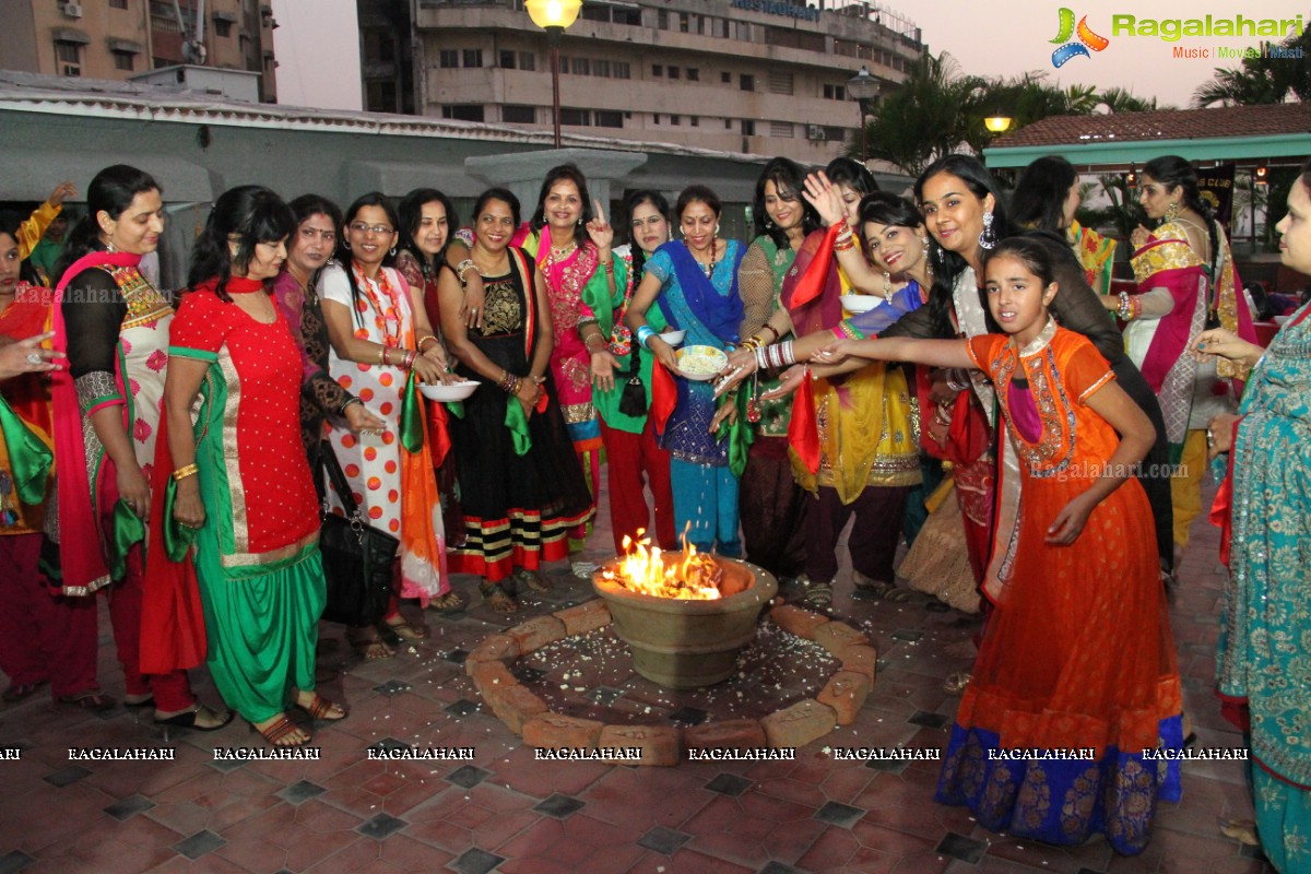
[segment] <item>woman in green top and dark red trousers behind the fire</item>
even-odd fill
[[[670,241],[669,202],[659,191],[640,190],[628,195],[624,212],[632,242],[614,249],[615,288],[611,291],[602,283],[583,288],[578,334],[591,352],[593,404],[606,447],[606,494],[615,552],[623,552],[624,537],[636,541],[644,535],[661,549],[678,549],[670,456],[656,439],[656,418],[650,414],[654,358],[633,342],[633,333],[624,324],[646,261]],[[658,309],[646,314],[653,330],[665,329]],[[645,489],[650,490],[650,506]]]

